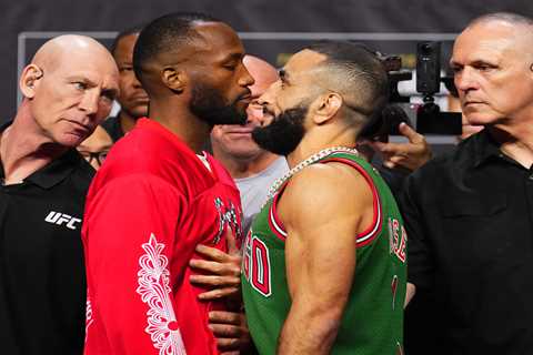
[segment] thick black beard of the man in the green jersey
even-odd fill
[[[252,139],[258,145],[278,155],[289,155],[303,139],[305,128],[303,121],[309,105],[299,105],[276,115],[266,126],[258,126],[252,131]]]

